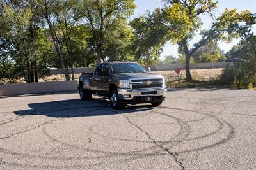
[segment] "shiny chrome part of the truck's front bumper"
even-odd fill
[[[121,89],[118,88],[118,96],[119,99],[122,100],[132,100],[134,97],[137,96],[167,96],[167,88],[154,88],[154,89]],[[141,94],[141,92],[155,92],[156,94]],[[129,96],[129,97],[127,97]]]

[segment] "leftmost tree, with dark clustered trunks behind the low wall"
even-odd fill
[[[27,69],[27,82],[38,81],[37,57],[39,21],[33,11],[33,1],[1,1],[1,39],[2,49],[7,58],[16,60],[15,66],[21,73]],[[8,62],[8,63],[9,63]],[[13,63],[14,64],[14,63]],[[21,76],[21,74],[19,74]],[[24,74],[22,74],[24,76]]]

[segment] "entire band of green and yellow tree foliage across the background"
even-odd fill
[[[213,16],[217,1],[165,2],[164,8],[147,11],[127,25],[133,0],[0,0],[0,78],[29,81],[29,74],[43,76],[47,67],[64,73],[100,60],[159,64],[167,41],[179,44],[180,55],[166,57],[166,63],[216,62],[223,58],[218,40],[248,37],[255,24],[256,16],[248,10],[225,10],[211,29],[200,30],[200,15]],[[198,31],[202,39],[189,49]],[[227,58],[243,55],[244,49],[242,44],[232,48]]]

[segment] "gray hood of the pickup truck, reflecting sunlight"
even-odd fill
[[[118,73],[113,74],[115,76],[118,76],[120,79],[132,79],[132,78],[138,78],[138,79],[147,79],[147,78],[163,78],[160,74],[154,74],[154,73]]]

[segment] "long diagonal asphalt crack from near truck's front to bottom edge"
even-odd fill
[[[180,162],[180,161],[177,159],[177,154],[170,152],[170,151],[168,150],[168,148],[165,148],[164,146],[158,144],[158,143],[156,142],[156,140],[155,140],[154,138],[152,138],[152,137],[148,134],[148,132],[143,131],[143,129],[141,129],[141,127],[139,127],[138,125],[132,123],[129,117],[127,117],[127,116],[124,115],[124,114],[121,114],[121,115],[124,116],[125,118],[127,118],[127,121],[129,122],[129,124],[134,125],[134,127],[136,127],[137,129],[139,129],[141,132],[145,133],[145,134],[148,136],[148,138],[153,141],[153,143],[154,143],[155,145],[159,146],[159,148],[161,148],[162,150],[164,150],[165,152],[167,152],[169,155],[172,155],[172,157],[174,157],[174,159],[175,159],[175,162],[177,162],[177,163],[180,165],[180,167],[181,167],[182,169],[185,169],[185,167],[183,166],[182,162]]]

